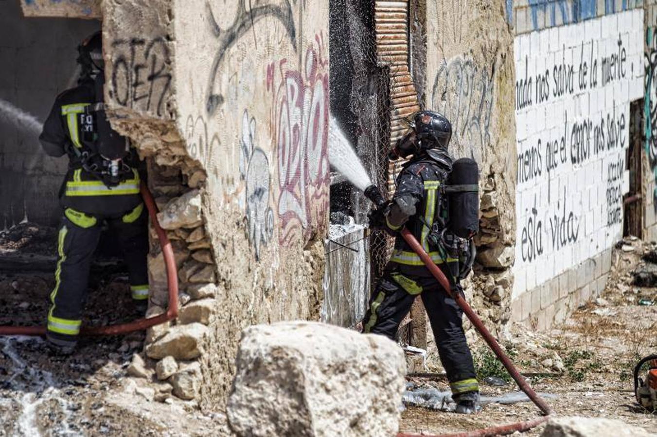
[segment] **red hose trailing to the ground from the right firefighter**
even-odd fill
[[[466,300],[464,299],[463,295],[460,293],[452,293],[451,292],[451,287],[449,285],[449,280],[445,277],[443,272],[434,264],[432,261],[431,257],[427,255],[427,253],[422,249],[422,246],[420,243],[417,241],[417,239],[409,232],[409,230],[404,229],[401,231],[401,236],[403,239],[406,240],[406,242],[411,246],[413,251],[417,253],[417,255],[422,259],[422,262],[424,262],[424,265],[426,268],[429,269],[429,271],[434,275],[434,277],[440,282],[440,285],[442,285],[443,289],[445,289],[445,292],[452,298],[456,303],[459,305],[461,310],[465,313],[466,316],[468,316],[468,319],[470,319],[470,322],[472,322],[472,325],[474,325],[475,329],[480,333],[482,337],[484,337],[484,340],[490,346],[490,348],[495,352],[495,355],[499,360],[502,362],[504,367],[507,369],[509,372],[509,375],[516,381],[518,386],[520,387],[520,390],[525,392],[525,394],[532,400],[532,402],[541,409],[543,413],[545,413],[545,417],[539,417],[537,419],[533,419],[532,421],[526,421],[526,422],[518,422],[518,423],[512,423],[510,425],[502,425],[500,427],[493,427],[493,428],[486,428],[486,429],[481,429],[481,430],[475,430],[475,431],[470,431],[470,432],[461,432],[457,434],[442,434],[441,436],[424,436],[424,437],[484,437],[484,436],[498,436],[498,435],[504,435],[504,434],[512,434],[513,432],[520,431],[524,432],[526,430],[530,430],[533,427],[536,427],[537,425],[541,425],[541,423],[546,422],[549,418],[550,415],[553,415],[555,411],[545,403],[543,399],[536,394],[536,392],[533,390],[532,387],[525,381],[525,379],[520,375],[518,370],[514,367],[512,364],[511,360],[509,360],[509,357],[504,353],[502,348],[499,346],[497,341],[495,341],[495,337],[491,335],[491,333],[486,329],[486,326],[484,326],[484,323],[480,320],[480,318],[475,314],[475,312],[470,308],[470,305]],[[397,434],[397,437],[416,437],[424,434],[403,434],[399,433]]]

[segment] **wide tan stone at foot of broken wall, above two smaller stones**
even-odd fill
[[[147,346],[146,354],[154,360],[172,356],[175,360],[194,360],[203,353],[203,337],[208,327],[201,323],[172,327],[164,337]]]

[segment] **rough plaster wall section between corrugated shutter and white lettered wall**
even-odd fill
[[[453,156],[480,165],[481,267],[473,299],[484,318],[501,324],[510,316],[515,239],[512,41],[502,0],[426,2],[425,107],[450,119]]]

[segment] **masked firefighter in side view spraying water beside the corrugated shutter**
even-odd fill
[[[440,266],[451,283],[452,293],[463,293],[459,277],[466,276],[472,266],[474,245],[471,239],[454,238],[443,232],[448,219],[443,186],[453,165],[447,153],[451,124],[443,115],[430,111],[411,116],[408,123],[409,130],[397,142],[390,159],[410,160],[397,177],[392,201],[371,213],[370,226],[393,235],[405,226]],[[445,250],[445,242],[453,245],[454,241],[465,243],[461,255]],[[392,258],[371,296],[363,331],[394,339],[399,323],[418,296],[429,316],[457,412],[474,413],[478,409],[479,385],[463,331],[463,312],[399,235]]]

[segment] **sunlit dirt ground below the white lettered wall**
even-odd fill
[[[529,377],[530,383],[537,392],[558,396],[548,400],[558,415],[620,419],[657,435],[657,413],[649,413],[636,404],[631,381],[635,364],[644,356],[657,354],[657,306],[638,304],[641,299],[657,301],[657,288],[633,285],[631,274],[637,266],[646,264],[641,255],[653,249],[638,240],[626,241],[626,251],[614,251],[614,267],[602,299],[579,308],[564,325],[549,331],[538,333],[513,326],[511,339],[502,342],[520,371],[543,373]],[[482,356],[489,356],[487,348],[480,344],[474,354],[480,366]],[[549,362],[542,364],[547,359],[555,361],[555,354],[564,364],[561,371]],[[488,369],[492,373],[501,371],[489,367],[493,367]],[[413,382],[449,389],[440,378]],[[512,383],[503,387],[482,385],[482,394],[516,390]],[[490,404],[481,413],[466,417],[411,407],[402,415],[400,430],[442,434],[526,421],[538,415],[530,402]],[[524,435],[539,436],[543,428]]]

